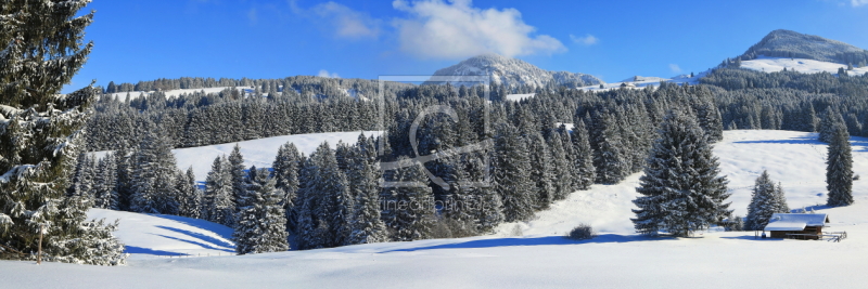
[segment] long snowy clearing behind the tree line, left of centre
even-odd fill
[[[278,149],[288,142],[295,144],[299,153],[310,155],[322,142],[329,142],[332,148],[339,141],[355,144],[361,133],[365,133],[366,136],[380,135],[379,131],[306,133],[243,141],[238,142],[238,144],[241,146],[241,155],[244,156],[244,167],[256,166],[256,168],[261,169],[271,168],[271,163],[275,162],[275,157],[278,155]],[[214,163],[214,159],[222,155],[229,156],[234,146],[235,143],[217,144],[177,148],[173,149],[171,153],[175,155],[178,169],[186,171],[188,168],[193,167],[196,182],[204,182],[205,178],[208,176],[208,172],[210,172],[210,165]],[[106,153],[98,152],[94,155],[102,158]]]

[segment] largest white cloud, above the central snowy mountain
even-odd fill
[[[471,0],[395,0],[392,6],[409,14],[396,18],[400,49],[422,57],[462,58],[483,53],[505,56],[553,53],[566,48],[522,21],[515,9],[477,9]]]

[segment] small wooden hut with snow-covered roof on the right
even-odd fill
[[[771,238],[816,240],[826,223],[829,216],[825,213],[776,213],[764,231],[770,232]]]

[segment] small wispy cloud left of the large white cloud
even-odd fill
[[[311,12],[327,19],[337,37],[359,39],[376,38],[380,35],[378,19],[348,6],[330,1],[314,6]]]

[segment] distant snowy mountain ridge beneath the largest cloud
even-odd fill
[[[457,76],[449,80],[454,86],[472,86],[475,83],[464,83],[460,76],[485,76],[492,77],[492,81],[507,87],[534,86],[545,87],[548,83],[566,84],[571,87],[584,87],[604,83],[597,77],[586,74],[574,74],[569,71],[545,70],[533,64],[521,60],[505,57],[498,54],[483,54],[464,60],[456,65],[439,69],[435,76],[446,77]]]

